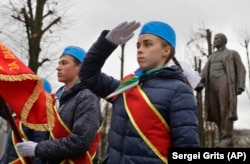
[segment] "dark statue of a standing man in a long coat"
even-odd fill
[[[233,147],[233,123],[238,119],[237,95],[245,89],[246,69],[239,53],[226,47],[224,34],[216,34],[213,44],[217,50],[209,56],[195,89],[199,92],[205,87],[205,119],[218,126],[217,147]]]

